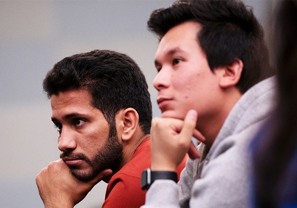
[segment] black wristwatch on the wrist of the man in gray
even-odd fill
[[[177,174],[171,171],[151,171],[148,168],[141,174],[141,189],[148,190],[152,182],[157,179],[169,179],[177,182]]]

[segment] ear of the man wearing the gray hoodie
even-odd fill
[[[221,88],[227,88],[237,85],[244,68],[244,63],[241,59],[236,58],[235,61],[228,66],[222,67],[223,72],[219,82]]]

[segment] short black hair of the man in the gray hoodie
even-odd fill
[[[154,10],[148,29],[161,40],[168,30],[188,21],[202,25],[198,44],[212,71],[232,64],[236,58],[243,61],[244,69],[237,84],[242,93],[271,75],[263,29],[252,9],[242,1],[178,0],[168,8]]]

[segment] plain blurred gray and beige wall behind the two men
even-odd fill
[[[172,0],[0,1],[0,207],[41,208],[35,177],[59,158],[51,108],[42,91],[47,71],[62,58],[94,49],[127,53],[144,71],[159,116],[153,57],[157,39],[146,22]],[[245,1],[271,44],[274,1]],[[100,182],[76,208],[100,207]],[[124,196],[124,193],[123,193]]]

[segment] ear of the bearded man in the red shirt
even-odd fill
[[[133,137],[133,135],[137,130],[138,123],[139,123],[138,112],[132,107],[126,108],[123,111],[123,121],[124,121],[124,126],[123,126],[122,140],[128,141]]]

